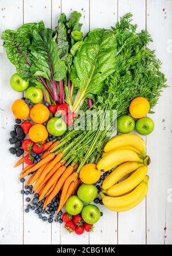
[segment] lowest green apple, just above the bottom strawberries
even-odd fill
[[[84,222],[94,224],[100,219],[100,210],[94,204],[85,205],[81,212]]]

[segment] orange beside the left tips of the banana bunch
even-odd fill
[[[96,183],[100,176],[101,171],[97,170],[96,164],[85,164],[80,170],[80,179],[85,184]]]

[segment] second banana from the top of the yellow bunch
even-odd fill
[[[129,149],[119,149],[101,158],[97,164],[97,169],[104,169],[107,171],[114,168],[116,165],[127,161],[143,163],[143,160],[134,151]]]

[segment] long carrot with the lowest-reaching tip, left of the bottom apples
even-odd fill
[[[68,193],[68,188],[70,186],[70,184],[72,183],[72,181],[75,181],[77,178],[77,172],[73,172],[66,180],[65,180],[65,183],[62,187],[62,192],[61,192],[61,196],[60,196],[60,203],[58,205],[58,210],[57,210],[57,213],[61,210],[61,208],[63,207],[64,205],[64,199],[65,199],[65,196],[67,195]],[[72,191],[70,192],[72,193]]]

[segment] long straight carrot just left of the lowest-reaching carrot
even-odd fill
[[[60,179],[58,180],[56,187],[53,189],[53,191],[47,197],[48,199],[44,202],[43,208],[45,208],[46,205],[49,204],[50,201],[52,201],[54,196],[57,195],[57,193],[60,191],[62,185],[65,183],[65,180],[72,174],[72,172],[73,172],[73,166],[69,165],[68,168],[65,170],[65,172],[61,175]]]

